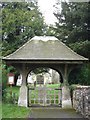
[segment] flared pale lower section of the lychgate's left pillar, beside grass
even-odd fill
[[[21,86],[20,93],[19,93],[19,99],[18,99],[18,106],[28,106],[27,102],[27,87]]]

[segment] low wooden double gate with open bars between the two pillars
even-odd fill
[[[62,107],[62,89],[38,86],[28,87],[29,106],[60,106]]]

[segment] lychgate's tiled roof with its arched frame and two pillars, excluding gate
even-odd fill
[[[45,40],[45,41],[44,41]],[[64,49],[65,48],[65,49]],[[14,66],[22,74],[22,86],[20,88],[19,106],[28,106],[27,75],[38,67],[52,68],[60,73],[63,78],[62,107],[71,106],[70,91],[68,88],[69,73],[78,65],[88,61],[87,58],[78,55],[65,44],[52,36],[36,36],[25,43],[14,53],[3,58],[7,65]],[[68,96],[67,96],[68,95]],[[64,106],[63,106],[64,103]]]

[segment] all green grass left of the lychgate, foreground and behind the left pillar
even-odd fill
[[[20,87],[12,87],[12,93],[19,96]],[[10,87],[6,88],[6,91],[10,93]],[[2,103],[2,118],[28,118],[30,108],[20,107],[17,104],[10,104],[6,102]]]

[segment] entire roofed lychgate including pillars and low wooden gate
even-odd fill
[[[58,104],[62,107],[71,107],[68,75],[78,64],[88,61],[87,58],[78,55],[53,36],[35,36],[14,53],[4,57],[3,60],[7,64],[13,65],[22,74],[18,105],[26,107],[33,104],[44,106]],[[63,87],[54,90],[46,86],[28,88],[27,75],[38,67],[48,67],[58,71],[63,78]],[[32,91],[34,92],[32,93]],[[37,94],[37,97],[32,97]],[[50,96],[54,98],[55,95],[58,95],[58,99],[51,100]],[[60,101],[61,99],[62,101]]]

